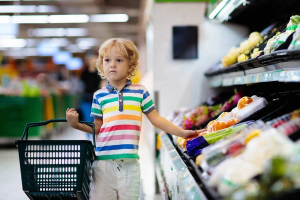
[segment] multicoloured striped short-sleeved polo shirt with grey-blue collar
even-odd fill
[[[121,90],[111,86],[94,92],[90,116],[102,118],[96,159],[139,158],[141,115],[155,108],[147,89],[127,80]]]

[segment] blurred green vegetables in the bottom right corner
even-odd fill
[[[226,199],[286,199],[298,196],[296,188],[300,182],[300,146],[290,156],[272,156],[258,178],[234,189]]]

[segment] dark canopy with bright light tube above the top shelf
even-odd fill
[[[230,21],[246,25],[256,30],[267,26],[270,21],[276,21],[289,16],[300,6],[298,0],[220,0],[218,4],[210,3],[207,17],[218,21]],[[276,14],[264,14],[271,10]],[[257,14],[253,14],[257,13]],[[259,22],[259,23],[258,23]]]

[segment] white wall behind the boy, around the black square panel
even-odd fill
[[[154,3],[153,57],[146,59],[152,59],[154,90],[159,92],[162,116],[205,100],[212,93],[203,76],[205,69],[248,34],[244,27],[208,22],[204,19],[205,6],[201,2]],[[198,59],[172,59],[173,25],[198,25]]]

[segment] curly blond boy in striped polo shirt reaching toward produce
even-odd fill
[[[94,117],[96,161],[93,163],[91,199],[138,199],[140,168],[138,141],[142,112],[149,121],[165,132],[188,138],[200,130],[184,130],[161,117],[147,89],[132,84],[130,78],[138,64],[134,43],[124,38],[112,38],[99,48],[96,68],[106,87],[93,95],[91,116]],[[78,123],[75,109],[66,110],[69,125],[92,133],[92,128]]]

